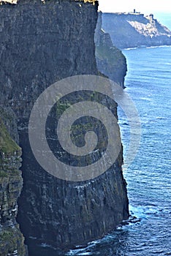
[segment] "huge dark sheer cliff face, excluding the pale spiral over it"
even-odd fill
[[[129,216],[122,152],[93,181],[66,182],[42,170],[28,140],[31,108],[47,86],[72,75],[98,74],[97,4],[20,1],[0,8],[0,99],[18,116],[24,180],[18,222],[26,243],[34,238],[34,243],[66,248],[102,237]]]

